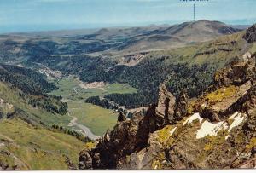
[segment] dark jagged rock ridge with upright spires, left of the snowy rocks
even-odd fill
[[[127,156],[135,157],[135,153],[148,145],[148,137],[155,130],[166,124],[176,124],[183,118],[188,106],[188,96],[183,91],[175,97],[162,84],[157,105],[151,105],[143,116],[138,112],[131,119],[119,112],[118,123],[111,132],[107,132],[96,147],[80,153],[80,169],[120,169],[125,168]],[[154,152],[155,152],[154,147]],[[136,157],[135,157],[136,158]]]

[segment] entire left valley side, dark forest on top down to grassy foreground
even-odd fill
[[[0,170],[70,170],[84,136],[64,127],[71,118],[44,76],[26,68],[1,65]]]

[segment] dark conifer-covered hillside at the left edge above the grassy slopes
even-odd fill
[[[64,115],[67,113],[67,103],[61,101],[61,97],[47,95],[49,91],[57,89],[54,84],[50,84],[44,76],[30,69],[0,65],[0,82],[3,84],[2,95],[7,87],[12,89],[13,94],[19,95],[20,99],[34,108],[43,108],[47,112]],[[22,108],[20,108],[22,110]]]

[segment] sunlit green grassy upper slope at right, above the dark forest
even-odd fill
[[[198,43],[185,48],[158,51],[149,54],[149,56],[157,58],[159,55],[166,55],[166,57],[168,57],[165,61],[167,64],[188,63],[189,66],[193,66],[194,64],[202,65],[207,63],[212,65],[215,63],[218,65],[218,68],[221,68],[225,63],[229,62],[230,59],[241,53],[241,49],[244,48],[246,43],[242,38],[244,33],[245,32],[238,32],[236,34],[218,37],[216,40]],[[236,41],[236,44],[232,44],[232,41]],[[224,51],[222,49],[230,49],[231,51]],[[207,52],[212,53],[206,54]]]

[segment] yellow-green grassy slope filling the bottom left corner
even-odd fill
[[[36,128],[19,118],[0,120],[0,161],[21,170],[68,170],[66,156],[78,164],[83,142],[73,136]],[[2,152],[3,153],[3,152]]]

